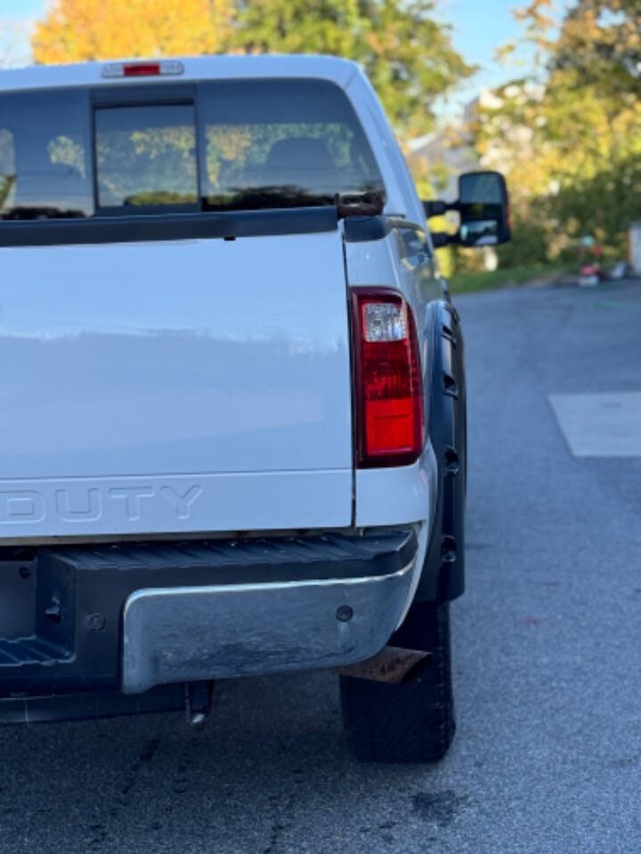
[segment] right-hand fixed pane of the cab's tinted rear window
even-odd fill
[[[203,196],[216,210],[331,205],[383,189],[352,105],[322,81],[204,85]]]

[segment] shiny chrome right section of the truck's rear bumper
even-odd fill
[[[121,688],[369,658],[402,616],[414,562],[384,576],[136,590],[123,612]]]

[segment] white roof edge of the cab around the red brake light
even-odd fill
[[[312,54],[260,56],[223,55],[198,57],[163,57],[161,60],[179,60],[183,63],[180,75],[160,77],[103,77],[102,69],[119,61],[82,62],[69,65],[33,65],[27,68],[6,68],[0,70],[0,92],[12,92],[22,89],[51,89],[61,86],[96,85],[135,85],[169,84],[193,80],[224,80],[251,77],[316,77],[330,80],[345,87],[354,75],[360,73],[361,66],[351,60],[336,56],[316,56]],[[151,62],[161,61],[154,58]]]

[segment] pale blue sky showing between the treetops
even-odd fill
[[[559,0],[563,2],[566,0]],[[20,64],[28,61],[28,21],[44,14],[46,4],[46,0],[0,0],[0,53],[6,52],[10,43],[12,61]],[[498,47],[514,41],[521,33],[511,10],[524,4],[525,0],[435,0],[436,16],[450,24],[452,42],[458,52],[468,62],[480,66],[474,78],[439,105],[443,117],[456,115],[483,86],[500,85],[527,71],[531,61],[527,52],[522,54],[523,65],[519,68],[493,59]],[[3,27],[5,21],[9,25]]]

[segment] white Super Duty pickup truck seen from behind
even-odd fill
[[[442,757],[467,438],[434,243],[509,237],[499,174],[459,189],[419,201],[345,60],[0,72],[0,721],[198,721],[214,680],[325,667],[358,757]]]

